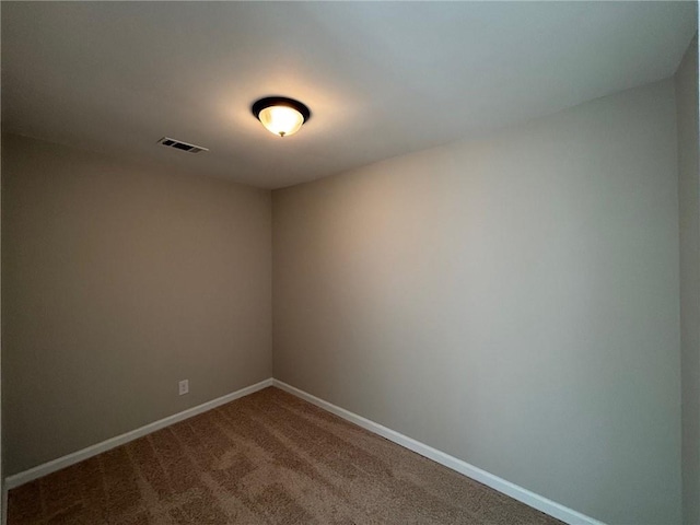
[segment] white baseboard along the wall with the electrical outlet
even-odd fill
[[[143,438],[144,435],[155,432],[156,430],[164,429],[165,427],[168,427],[173,423],[184,421],[185,419],[206,412],[221,405],[225,405],[226,402],[231,402],[234,399],[238,399],[240,397],[244,397],[253,394],[254,392],[261,390],[262,388],[266,388],[268,386],[272,386],[272,378],[261,381],[245,388],[241,388],[240,390],[226,394],[225,396],[212,399],[211,401],[198,405],[197,407],[188,408],[187,410],[183,410],[182,412],[168,416],[167,418],[163,418],[153,423],[149,423],[144,427],[141,427],[140,429],[132,430],[130,432],[127,432],[126,434],[117,435],[116,438],[110,438],[109,440],[103,441],[102,443],[97,443],[96,445],[89,446],[88,448],[83,448],[82,451],[73,452],[66,456],[59,457],[58,459],[38,465],[23,472],[8,476],[4,480],[4,492],[48,474],[60,470],[61,468],[70,467],[71,465],[96,456],[97,454],[102,454],[103,452],[129,443],[130,441]],[[3,509],[7,509],[7,505],[3,505]]]

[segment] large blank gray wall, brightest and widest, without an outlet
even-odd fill
[[[680,522],[673,80],[272,192],[275,377],[609,523]]]

